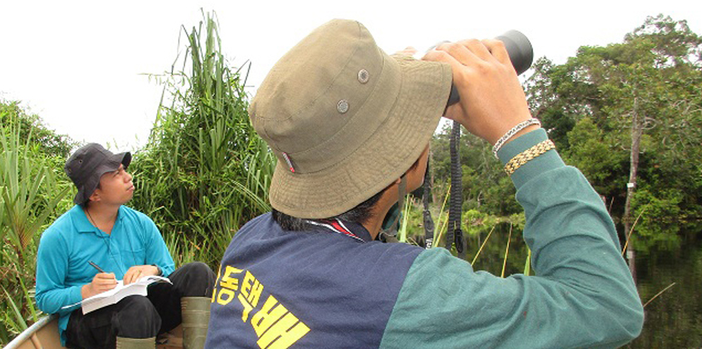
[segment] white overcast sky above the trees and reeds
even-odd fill
[[[250,93],[287,49],[332,18],[359,20],[388,53],[517,29],[536,58],[557,64],[581,45],[621,42],[658,13],[702,34],[699,0],[0,0],[0,98],[21,101],[77,141],[138,150],[162,90],[143,74],[169,70],[181,25],[197,25],[200,8],[217,13],[231,66],[252,62]]]

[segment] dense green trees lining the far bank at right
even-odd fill
[[[543,57],[532,69],[525,83],[532,114],[624,232],[641,216],[637,234],[648,238],[641,244],[674,240],[674,230],[653,223],[702,217],[702,37],[686,21],[649,17],[621,43],[580,47],[564,64]],[[464,210],[518,212],[489,145],[461,141]],[[432,152],[434,187],[443,193],[448,131],[434,137]]]

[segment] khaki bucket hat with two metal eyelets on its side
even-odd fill
[[[278,157],[270,204],[297,218],[340,215],[420,157],[451,90],[451,66],[389,56],[352,20],[331,20],[290,49],[249,107]]]

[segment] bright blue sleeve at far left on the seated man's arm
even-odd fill
[[[61,235],[42,235],[37,251],[36,300],[39,309],[47,314],[68,314],[78,309],[83,300],[82,286],[65,283],[68,254],[69,246]]]

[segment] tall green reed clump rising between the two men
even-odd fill
[[[270,210],[275,157],[249,122],[250,64],[230,68],[215,15],[203,13],[182,34],[185,54],[156,76],[164,90],[148,144],[130,167],[132,205],[161,228],[175,259],[215,266],[234,232]]]

